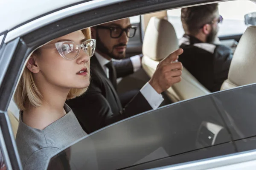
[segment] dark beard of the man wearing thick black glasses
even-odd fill
[[[116,56],[115,54],[113,54],[113,50],[116,47],[123,47],[126,46],[126,44],[123,43],[119,43],[117,45],[114,45],[112,48],[112,51],[109,52],[108,48],[104,45],[104,43],[100,40],[98,34],[96,34],[96,49],[99,50],[100,52],[102,52],[103,54],[108,55],[109,57],[113,58],[113,59],[124,59],[125,58],[125,52],[121,52],[119,53],[118,56]]]

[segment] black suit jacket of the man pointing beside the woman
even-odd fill
[[[87,133],[152,109],[140,92],[122,108],[116,90],[95,56],[90,60],[90,71],[87,92],[66,101]]]

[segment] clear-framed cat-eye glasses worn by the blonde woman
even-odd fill
[[[62,41],[62,42],[56,42],[54,44],[48,44],[44,45],[41,48],[57,48],[58,53],[63,57],[64,59],[75,59],[78,55],[81,49],[89,56],[92,57],[95,52],[96,47],[96,40],[95,39],[89,39],[81,44],[77,44],[76,42],[71,41]]]

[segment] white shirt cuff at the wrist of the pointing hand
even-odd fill
[[[164,100],[162,94],[158,94],[148,82],[140,89],[140,93],[153,109],[157,109]]]

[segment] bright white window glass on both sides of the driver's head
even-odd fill
[[[168,10],[168,20],[175,28],[178,38],[184,34],[180,20],[181,8]],[[219,14],[224,18],[223,23],[219,24],[218,36],[243,34],[247,26],[244,23],[244,15],[256,11],[256,4],[250,0],[237,0],[221,2],[218,6]]]

